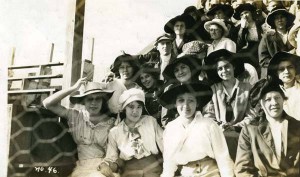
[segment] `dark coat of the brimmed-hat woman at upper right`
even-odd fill
[[[294,47],[287,41],[286,44],[283,43],[278,32],[267,32],[265,34],[258,47],[258,58],[259,65],[261,66],[261,78],[264,78],[267,75],[267,67],[269,66],[271,58],[275,53],[279,51],[289,52],[294,49]]]

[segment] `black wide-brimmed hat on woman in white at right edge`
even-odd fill
[[[277,52],[270,60],[270,63],[268,65],[268,75],[278,77],[277,70],[278,65],[281,61],[289,60],[292,62],[293,65],[295,65],[295,69],[297,74],[300,74],[300,57],[297,55],[290,54],[288,52]]]

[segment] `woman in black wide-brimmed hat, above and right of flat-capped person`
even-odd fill
[[[182,46],[192,40],[192,38],[188,36],[187,30],[191,29],[194,24],[195,20],[193,17],[186,14],[178,15],[165,24],[165,32],[175,36],[173,52],[176,56],[182,52]]]

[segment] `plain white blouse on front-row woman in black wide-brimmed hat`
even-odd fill
[[[170,122],[164,131],[164,164],[162,177],[174,176],[177,165],[201,160],[206,156],[216,159],[221,176],[233,174],[233,162],[223,132],[211,119],[197,112],[188,127],[183,117]]]

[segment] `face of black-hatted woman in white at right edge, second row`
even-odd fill
[[[296,77],[296,68],[290,61],[282,61],[278,65],[277,74],[284,84],[293,83]]]

